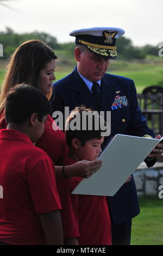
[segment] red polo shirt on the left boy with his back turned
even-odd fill
[[[54,165],[30,138],[0,131],[0,241],[13,245],[45,242],[38,214],[61,209]]]

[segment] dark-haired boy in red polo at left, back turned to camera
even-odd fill
[[[62,245],[60,199],[52,160],[34,142],[51,105],[25,84],[7,97],[7,129],[0,131],[0,245]]]

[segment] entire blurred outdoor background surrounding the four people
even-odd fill
[[[0,0],[0,87],[8,60],[22,42],[39,39],[53,48],[58,56],[58,80],[76,65],[71,31],[120,27],[126,31],[117,39],[120,57],[111,60],[108,72],[134,80],[141,109],[157,134],[163,126],[163,93],[159,91],[155,105],[152,97],[147,109],[149,99],[143,90],[163,88],[162,10],[162,0]],[[135,172],[141,214],[133,219],[132,245],[163,245],[163,199],[158,197],[163,164],[159,164],[151,170],[142,166]]]

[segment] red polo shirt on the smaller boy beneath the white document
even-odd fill
[[[66,165],[73,163],[72,159],[67,159]],[[79,177],[57,179],[64,239],[78,237],[79,245],[111,245],[106,197],[72,194],[81,180]]]

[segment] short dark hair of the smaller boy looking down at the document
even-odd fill
[[[85,113],[85,124],[84,119],[82,117],[82,113]],[[91,130],[89,127],[89,120],[91,115]],[[93,114],[93,115],[92,115]],[[78,119],[80,122],[80,130],[72,130],[71,124],[75,121],[75,119]],[[105,120],[100,117],[97,112],[92,111],[90,108],[86,108],[85,106],[80,106],[72,110],[69,117],[66,120],[65,124],[65,136],[66,136],[66,142],[67,145],[71,145],[71,141],[73,138],[79,139],[80,143],[84,146],[87,141],[90,141],[91,139],[101,139],[101,133],[104,132],[104,130],[101,129],[101,125],[99,125],[100,122],[103,122],[103,124],[106,125]],[[96,127],[96,122],[98,122],[98,129]],[[82,130],[83,125],[85,128]]]

